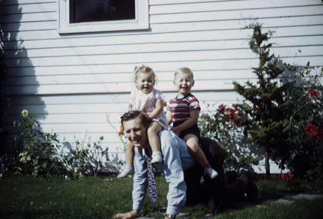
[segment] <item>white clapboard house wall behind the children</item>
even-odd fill
[[[91,142],[104,137],[113,162],[123,160],[116,132],[134,88],[134,66],[155,70],[156,88],[166,101],[176,94],[174,70],[187,66],[194,71],[192,93],[202,112],[232,104],[239,99],[232,81],[253,81],[250,68],[258,64],[248,48],[252,31],[241,29],[249,18],[258,18],[264,31],[276,31],[272,52],[284,62],[323,65],[321,1],[150,0],[149,5],[148,30],[58,34],[57,1],[2,1],[1,41],[9,66],[4,128],[11,140],[17,132],[12,122],[27,109],[61,142],[73,144],[87,131]]]

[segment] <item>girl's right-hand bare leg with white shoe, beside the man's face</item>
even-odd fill
[[[160,130],[162,129],[163,127],[158,122],[152,122],[147,130],[149,144],[153,151],[151,161],[152,164],[162,162],[162,157],[160,153],[160,142],[159,137],[157,135],[157,133],[160,132]]]

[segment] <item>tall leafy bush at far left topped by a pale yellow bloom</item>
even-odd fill
[[[60,149],[56,133],[40,131],[37,116],[29,114],[26,109],[20,113],[20,120],[14,122],[21,132],[15,135],[14,149],[17,159],[11,160],[12,170],[17,174],[24,172],[32,176],[60,175],[65,173],[64,166],[58,161]],[[18,156],[17,156],[18,154]]]

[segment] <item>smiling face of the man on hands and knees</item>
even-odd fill
[[[147,127],[142,125],[139,118],[123,123],[128,140],[137,148],[146,148],[148,144]]]

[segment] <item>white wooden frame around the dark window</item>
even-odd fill
[[[149,28],[149,0],[135,0],[135,19],[69,23],[69,0],[58,0],[58,33],[105,32]]]

